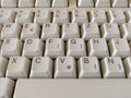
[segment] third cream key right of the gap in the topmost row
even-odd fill
[[[111,0],[114,8],[116,7],[128,7],[128,0]]]

